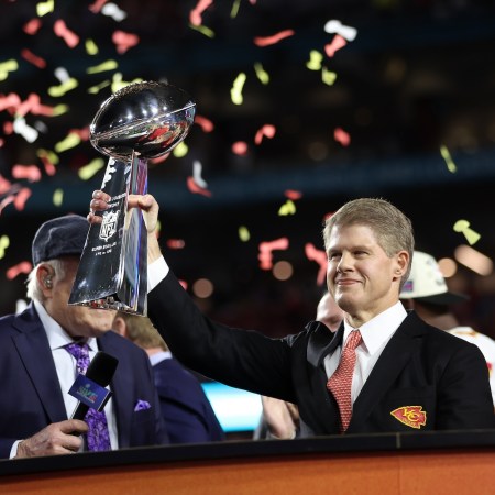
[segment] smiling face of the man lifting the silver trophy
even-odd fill
[[[367,226],[334,227],[327,254],[328,288],[354,323],[369,321],[398,300],[407,252],[388,257]]]

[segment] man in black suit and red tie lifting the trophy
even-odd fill
[[[92,213],[110,197],[94,193]],[[148,315],[186,366],[230,386],[297,404],[301,436],[493,428],[480,350],[436,329],[399,301],[414,252],[409,219],[383,199],[349,201],[323,230],[327,283],[344,321],[285,339],[206,318],[163,258],[158,205],[132,196],[148,229]],[[343,349],[342,349],[343,348]],[[351,414],[351,416],[350,416]]]

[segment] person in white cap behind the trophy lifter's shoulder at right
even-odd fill
[[[414,309],[427,323],[480,348],[488,367],[492,398],[495,403],[495,341],[471,327],[459,326],[450,307],[465,302],[469,297],[449,290],[433,256],[415,251],[410,275],[404,284],[400,299],[407,309]]]

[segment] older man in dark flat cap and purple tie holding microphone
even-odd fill
[[[114,311],[67,305],[88,227],[76,215],[41,226],[28,279],[32,302],[0,319],[0,458],[167,443],[147,355],[108,331]],[[77,406],[68,394],[76,372],[98,351],[119,363],[95,440],[89,416],[67,418]]]

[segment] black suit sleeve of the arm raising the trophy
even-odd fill
[[[154,326],[187,367],[232,387],[295,402],[287,341],[212,322],[173,273],[150,293],[147,304]]]

